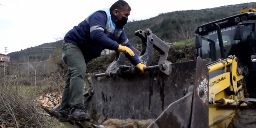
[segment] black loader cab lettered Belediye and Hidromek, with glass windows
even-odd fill
[[[248,90],[256,92],[256,13],[241,13],[224,19],[203,24],[195,29],[196,56],[206,64],[235,55],[239,66],[247,66]],[[223,70],[209,74],[215,77]],[[252,88],[252,85],[255,86]],[[248,92],[249,93],[249,92]],[[253,94],[256,97],[256,93]]]

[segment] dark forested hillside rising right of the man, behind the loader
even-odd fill
[[[239,14],[239,11],[245,7],[256,8],[256,2],[202,10],[163,13],[150,19],[128,22],[125,25],[125,31],[132,43],[140,42],[140,39],[134,35],[134,32],[138,29],[145,30],[146,28],[150,28],[155,35],[166,42],[176,42],[193,37],[193,32],[197,26]]]

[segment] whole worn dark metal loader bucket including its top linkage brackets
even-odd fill
[[[68,127],[99,128],[113,119],[153,119],[148,128],[208,127],[208,68],[200,57],[194,61],[167,61],[169,46],[150,29],[138,30],[142,39],[139,58],[147,67],[145,73],[124,64],[124,54],[105,73],[88,77],[84,106],[92,120],[70,121]],[[152,49],[159,51],[158,65],[152,62]],[[47,113],[58,118],[59,105]],[[53,114],[54,113],[54,114]],[[83,126],[81,125],[83,124]]]

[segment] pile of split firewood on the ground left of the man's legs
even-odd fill
[[[44,93],[38,97],[36,104],[40,104],[46,108],[53,108],[57,104],[61,103],[62,94],[61,93]]]

